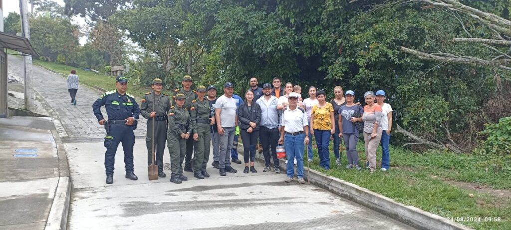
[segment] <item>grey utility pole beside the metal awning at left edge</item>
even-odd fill
[[[23,37],[30,41],[29,12],[27,0],[19,0],[19,9],[21,11],[21,30]],[[23,56],[24,81],[25,81],[25,109],[34,111],[34,87],[32,86],[32,56]]]

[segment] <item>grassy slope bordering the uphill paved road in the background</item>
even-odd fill
[[[73,66],[67,66],[63,64],[58,64],[54,62],[44,62],[39,60],[33,60],[33,63],[36,65],[43,66],[45,68],[48,68],[49,70],[52,70],[57,73],[61,73],[65,76],[69,75],[71,73],[71,70],[76,70],[76,75],[80,77],[80,83],[85,84],[90,87],[99,86],[105,90],[112,90],[115,89],[115,77],[113,76],[106,76],[104,74],[95,74],[94,72],[90,71],[84,71],[81,68],[73,67]],[[64,77],[64,76],[62,76]],[[133,85],[131,83],[128,83],[128,93],[132,94],[133,96],[137,98],[142,98],[144,96],[144,93],[151,90],[150,87],[141,87],[138,85]]]

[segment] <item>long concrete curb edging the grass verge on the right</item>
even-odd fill
[[[241,151],[240,151],[241,146]],[[238,143],[238,152],[243,153],[243,144]],[[255,158],[264,162],[262,154],[255,154]],[[286,171],[286,160],[280,159],[280,169]],[[296,168],[296,167],[295,167]],[[304,167],[307,169],[307,167]],[[305,171],[305,170],[304,170]],[[369,209],[383,213],[388,217],[408,224],[417,229],[425,230],[472,230],[473,228],[450,221],[444,217],[426,212],[414,206],[399,203],[386,196],[372,192],[366,188],[355,185],[354,183],[341,180],[339,178],[325,175],[316,170],[310,169],[309,173],[304,172],[305,179],[309,179],[311,184],[326,189],[329,192],[347,198],[358,204],[364,205]],[[309,177],[309,178],[307,178]]]

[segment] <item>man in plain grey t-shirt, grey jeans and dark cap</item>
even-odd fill
[[[230,151],[233,148],[236,126],[238,126],[238,117],[236,116],[236,100],[233,98],[234,85],[227,82],[224,84],[224,95],[217,99],[215,103],[215,119],[220,136],[219,165],[220,175],[225,176],[225,172],[236,173],[236,169],[230,167]]]

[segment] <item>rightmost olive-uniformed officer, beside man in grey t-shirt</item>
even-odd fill
[[[206,87],[197,87],[197,100],[192,101],[190,114],[192,117],[193,139],[195,141],[194,149],[194,177],[204,179],[210,177],[206,172],[207,160],[210,159],[211,145],[211,125],[214,124],[214,118],[211,116],[210,102],[205,99]]]

